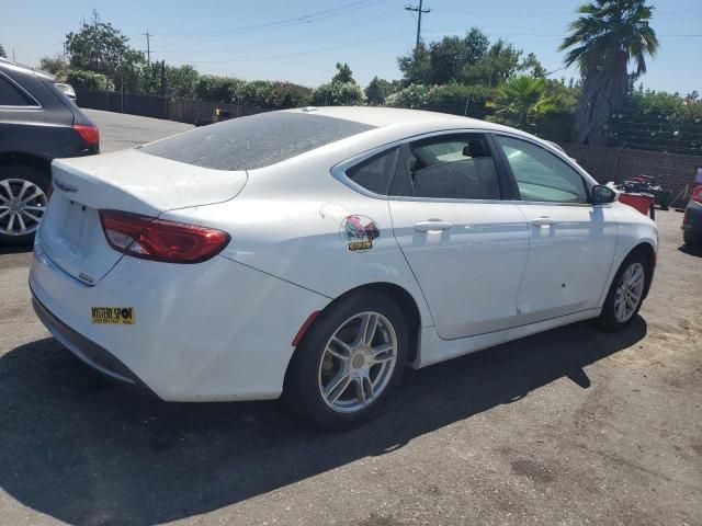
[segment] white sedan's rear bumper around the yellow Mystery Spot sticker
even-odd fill
[[[39,319],[95,369],[169,401],[260,400],[282,392],[292,341],[329,298],[222,256],[196,265],[123,258],[94,286],[35,245]],[[93,323],[93,307],[129,307],[135,323]]]

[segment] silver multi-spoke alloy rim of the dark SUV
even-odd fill
[[[0,181],[0,233],[26,236],[36,231],[47,201],[46,193],[31,181]]]

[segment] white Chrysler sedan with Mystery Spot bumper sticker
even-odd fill
[[[35,309],[163,400],[364,421],[405,367],[630,323],[653,221],[553,145],[409,110],[306,107],[57,160]]]

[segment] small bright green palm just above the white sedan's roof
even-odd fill
[[[546,94],[546,79],[518,77],[503,84],[490,104],[495,115],[490,121],[533,130],[539,122],[556,111],[555,100]]]

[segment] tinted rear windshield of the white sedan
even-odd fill
[[[203,168],[253,170],[373,127],[306,113],[259,113],[176,135],[141,151]]]

